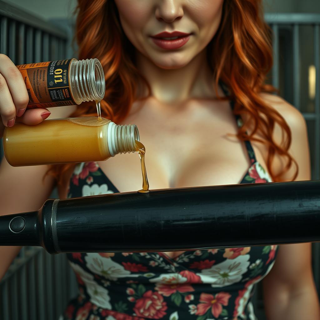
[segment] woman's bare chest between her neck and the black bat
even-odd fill
[[[228,136],[236,134],[238,126],[226,101],[180,109],[148,105],[125,123],[139,129],[150,189],[237,184],[251,165],[244,142]],[[255,153],[266,167],[259,150]],[[99,165],[120,192],[141,188],[137,153],[117,155]]]

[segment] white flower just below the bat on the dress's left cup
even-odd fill
[[[99,253],[87,253],[84,260],[86,266],[92,273],[98,274],[111,281],[117,281],[118,278],[127,276],[138,277],[139,274],[132,274],[125,270],[124,267],[115,261],[100,256]]]

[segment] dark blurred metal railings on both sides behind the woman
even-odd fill
[[[270,83],[305,117],[312,180],[320,180],[320,15],[266,14],[265,18],[274,34]],[[70,58],[66,56],[66,41],[70,43],[70,39],[65,34],[0,0],[0,53],[7,54],[16,65]],[[0,148],[0,159],[2,156]],[[312,253],[319,293],[319,243],[312,244]],[[43,248],[25,247],[0,283],[0,319],[58,319],[76,294],[75,275],[64,254],[50,255]],[[261,283],[253,304],[258,319],[265,320]]]

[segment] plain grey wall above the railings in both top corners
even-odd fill
[[[76,0],[5,0],[32,12],[43,19],[70,18],[76,7]],[[88,0],[91,1],[91,0]],[[306,12],[320,13],[319,0],[264,0],[265,12]]]

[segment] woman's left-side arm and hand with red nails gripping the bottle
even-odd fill
[[[6,55],[0,54],[0,138],[8,124],[12,126],[15,122],[22,122],[36,125],[48,117],[48,110],[44,108],[24,111],[28,102],[28,92],[20,71]],[[52,108],[51,118],[68,117],[75,108]],[[54,179],[50,176],[42,181],[47,168],[12,167],[3,157],[0,165],[0,215],[36,211],[42,206],[54,186]],[[20,249],[20,246],[0,247],[0,280]]]

